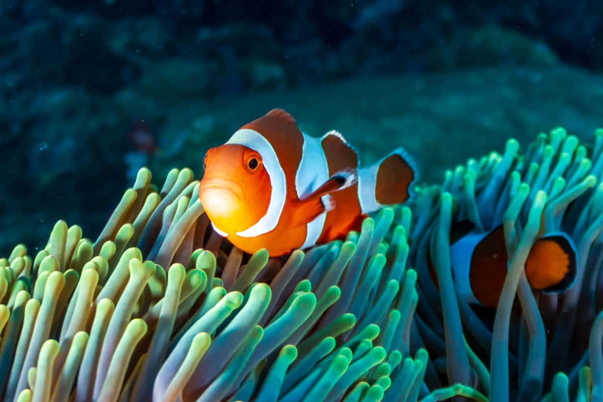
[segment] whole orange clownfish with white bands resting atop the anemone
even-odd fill
[[[246,253],[270,256],[343,238],[366,214],[404,203],[417,178],[402,148],[361,169],[340,133],[308,136],[282,109],[210,148],[203,166],[199,199],[213,229]]]

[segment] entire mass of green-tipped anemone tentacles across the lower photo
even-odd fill
[[[36,256],[18,245],[0,259],[0,397],[601,401],[602,172],[603,131],[590,149],[562,129],[525,155],[509,140],[344,240],[269,258],[213,232],[192,171],[159,190],[140,169],[95,242],[59,221]],[[495,311],[456,294],[462,219],[504,224]],[[523,265],[558,230],[578,245],[578,278],[537,294]]]

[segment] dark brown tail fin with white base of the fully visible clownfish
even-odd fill
[[[404,203],[412,195],[417,177],[417,164],[403,148],[397,148],[375,165],[361,169],[358,198],[362,213]]]

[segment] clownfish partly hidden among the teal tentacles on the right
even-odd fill
[[[496,309],[508,272],[508,255],[503,225],[486,233],[473,231],[469,221],[457,222],[450,233],[450,265],[455,287],[470,304]],[[559,293],[576,280],[576,246],[563,232],[538,238],[525,263],[525,274],[532,289]],[[428,267],[437,284],[428,253]]]

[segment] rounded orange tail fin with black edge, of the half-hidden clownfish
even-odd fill
[[[530,286],[546,293],[564,292],[576,280],[576,247],[565,233],[538,239],[526,260]]]

